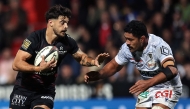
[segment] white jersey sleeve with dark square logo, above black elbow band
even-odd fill
[[[173,58],[173,54],[172,54],[172,50],[171,50],[170,46],[164,41],[162,41],[162,43],[160,43],[156,47],[156,54],[157,54],[157,58],[160,61],[160,63],[162,63],[163,60],[165,60],[167,58]]]

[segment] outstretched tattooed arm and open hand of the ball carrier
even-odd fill
[[[95,59],[89,57],[87,54],[82,52],[80,49],[73,54],[73,57],[83,66],[98,66],[109,57],[108,53],[101,53]]]

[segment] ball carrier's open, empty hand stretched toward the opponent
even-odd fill
[[[96,58],[95,58],[95,62],[94,64],[97,66],[97,67],[100,67],[100,64],[102,62],[104,62],[104,60],[109,57],[110,55],[108,53],[101,53],[99,54]]]

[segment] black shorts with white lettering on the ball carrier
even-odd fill
[[[14,87],[10,95],[9,108],[33,109],[36,105],[46,105],[53,108],[55,91],[30,91],[24,88]]]

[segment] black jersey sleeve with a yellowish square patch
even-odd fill
[[[20,50],[30,53],[31,55],[35,53],[35,47],[37,45],[37,36],[32,32],[22,43]]]

